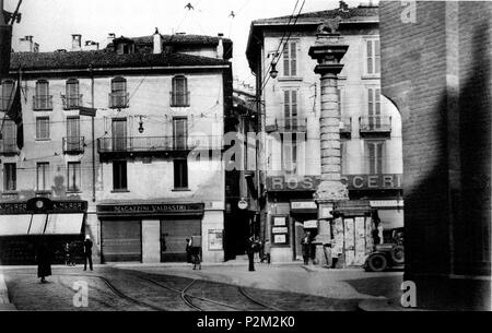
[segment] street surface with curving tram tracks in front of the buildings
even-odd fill
[[[300,265],[260,265],[256,272],[237,265],[56,266],[47,284],[36,278],[36,267],[0,273],[17,310],[61,311],[355,311],[361,300],[396,297],[401,282],[401,273]],[[89,286],[89,305],[79,308],[73,299],[81,282]]]

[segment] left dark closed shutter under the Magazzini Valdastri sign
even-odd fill
[[[104,262],[142,261],[140,221],[103,221],[101,236]]]

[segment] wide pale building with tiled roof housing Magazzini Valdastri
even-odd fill
[[[2,261],[32,261],[28,235],[58,235],[60,249],[83,234],[103,263],[185,261],[191,236],[203,261],[223,261],[231,40],[110,34],[82,50],[72,37],[72,51],[12,53],[2,82],[3,111],[20,82],[24,139],[5,120]]]

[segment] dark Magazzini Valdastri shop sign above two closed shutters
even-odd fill
[[[197,215],[203,214],[203,203],[114,204],[98,205],[98,215]]]

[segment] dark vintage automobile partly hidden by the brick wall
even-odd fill
[[[393,242],[376,245],[364,262],[366,272],[383,272],[405,265],[403,230],[393,230]]]

